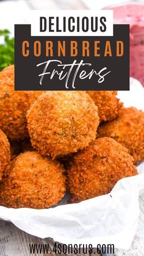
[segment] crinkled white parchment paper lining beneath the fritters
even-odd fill
[[[135,79],[130,92],[118,92],[118,97],[126,107],[144,111],[144,89]],[[144,193],[144,163],[137,169],[139,175],[118,181],[110,194],[45,210],[0,207],[0,218],[31,235],[64,244],[114,244],[129,249],[139,221],[139,196]]]

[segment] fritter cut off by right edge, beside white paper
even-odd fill
[[[112,137],[128,148],[135,163],[144,159],[144,112],[136,108],[123,108],[112,122],[99,126],[98,137]]]

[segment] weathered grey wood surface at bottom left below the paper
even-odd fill
[[[10,222],[0,221],[0,255],[1,256],[57,256],[52,252],[54,241],[52,238],[41,239],[29,235],[15,227]],[[49,254],[30,254],[29,244],[49,244]],[[60,254],[60,256],[70,256],[73,254]],[[77,256],[90,256],[90,254],[74,254]],[[92,254],[91,254],[92,255]],[[97,255],[97,254],[93,254]],[[98,255],[97,255],[98,256]]]

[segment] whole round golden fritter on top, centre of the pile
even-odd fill
[[[96,137],[98,109],[82,91],[45,92],[27,114],[32,146],[42,155],[68,155]]]

